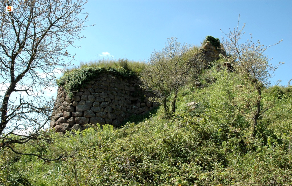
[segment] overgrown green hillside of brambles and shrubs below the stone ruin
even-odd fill
[[[121,128],[44,132],[49,143],[15,147],[65,155],[60,161],[2,152],[0,185],[292,185],[292,87],[264,89],[265,112],[251,137],[253,108],[244,101],[254,95],[237,74],[212,68],[200,78],[216,81],[182,87],[170,120],[159,108]]]

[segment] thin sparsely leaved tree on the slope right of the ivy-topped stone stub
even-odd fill
[[[227,34],[221,31],[228,38],[228,40],[224,40],[223,38],[225,50],[231,55],[227,60],[233,63],[236,72],[243,77],[245,88],[248,89],[249,92],[248,94],[256,94],[256,97],[253,99],[242,99],[246,107],[251,111],[249,114],[249,117],[253,120],[253,124],[251,125],[251,136],[254,137],[256,135],[256,126],[258,125],[260,115],[265,111],[261,105],[262,89],[265,85],[270,84],[269,79],[273,77],[274,71],[281,62],[276,66],[272,66],[272,64],[269,64],[271,59],[264,54],[269,47],[275,44],[264,47],[264,45],[260,44],[259,40],[253,42],[251,34],[250,39],[245,43],[240,43],[241,37],[245,34],[245,32],[243,32],[244,27],[245,24],[239,30],[238,17],[237,27],[234,28],[233,31],[230,30]]]

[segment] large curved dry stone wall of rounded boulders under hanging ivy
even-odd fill
[[[100,74],[98,78],[73,93],[70,98],[60,86],[51,117],[55,132],[84,130],[86,124],[120,126],[131,115],[144,114],[158,106],[148,101],[154,94],[142,89],[138,78],[118,78]]]

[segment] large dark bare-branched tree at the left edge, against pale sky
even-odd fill
[[[70,65],[74,56],[65,49],[82,38],[87,1],[0,2],[13,6],[0,15],[0,148],[15,151],[14,143],[38,138],[50,119],[52,100],[41,93],[55,83],[58,67]]]

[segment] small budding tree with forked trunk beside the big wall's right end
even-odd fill
[[[178,88],[191,76],[192,64],[188,54],[190,49],[191,45],[180,44],[175,37],[169,38],[162,51],[153,51],[149,64],[141,75],[145,88],[150,87],[158,93],[168,117],[175,112]],[[174,94],[170,109],[167,102],[172,93]]]

